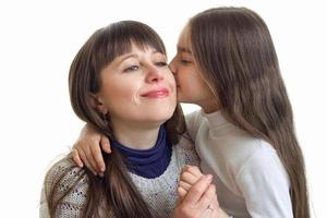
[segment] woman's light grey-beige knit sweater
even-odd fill
[[[186,135],[181,137],[179,144],[172,146],[170,164],[161,175],[154,179],[146,179],[129,172],[133,183],[141,192],[144,201],[147,203],[154,215],[159,217],[170,217],[172,215],[177,199],[175,190],[178,186],[179,174],[185,165],[199,165],[194,145]],[[63,172],[69,168],[72,168],[70,172],[63,174]],[[49,194],[53,182],[58,181],[58,179],[63,175],[63,179],[60,180],[59,189],[56,190],[56,193],[58,193],[55,196],[56,198],[62,195],[70,184],[74,184],[83,171],[84,170],[77,168],[69,158],[64,158],[55,164],[55,166],[49,170],[48,177],[44,182],[40,201],[40,218],[49,217],[46,195]],[[74,189],[61,201],[55,217],[81,217],[82,210],[86,204],[87,190],[87,175],[85,174]],[[105,213],[106,211],[100,210],[100,214]]]

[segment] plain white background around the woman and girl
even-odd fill
[[[70,106],[68,71],[95,29],[142,21],[160,34],[171,59],[187,19],[216,5],[243,5],[266,21],[293,105],[313,215],[327,217],[327,15],[318,0],[1,1],[0,217],[38,217],[45,172],[83,125]]]

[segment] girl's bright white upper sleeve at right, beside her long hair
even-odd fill
[[[237,175],[253,218],[293,218],[288,174],[272,148],[256,150]]]

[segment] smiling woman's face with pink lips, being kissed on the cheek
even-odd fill
[[[100,72],[98,108],[117,122],[161,124],[172,117],[177,106],[175,82],[166,56],[152,47],[117,57]]]

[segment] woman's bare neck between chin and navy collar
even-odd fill
[[[112,123],[116,140],[133,149],[149,149],[156,145],[160,125],[140,126],[124,124],[120,122]]]

